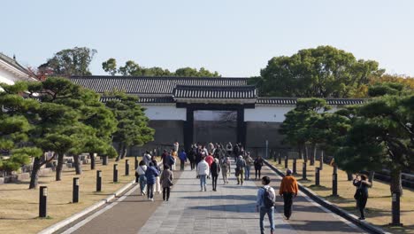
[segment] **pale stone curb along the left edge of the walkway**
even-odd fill
[[[126,183],[126,185],[122,188],[120,188],[118,191],[115,191],[112,195],[108,196],[106,199],[102,199],[101,201],[98,201],[96,204],[87,207],[86,209],[80,211],[79,213],[73,214],[72,216],[66,218],[65,220],[61,221],[61,222],[57,222],[53,225],[51,225],[50,227],[41,230],[40,232],[38,232],[38,234],[50,234],[53,233],[63,227],[65,227],[67,224],[74,222],[75,220],[79,219],[81,216],[88,214],[94,210],[96,210],[99,207],[102,207],[103,205],[105,205],[106,203],[110,202],[112,199],[115,199],[116,197],[119,196],[119,194],[122,194],[124,191],[126,191],[127,189],[129,189],[131,186],[133,186],[135,183],[135,180],[131,181],[130,183]]]

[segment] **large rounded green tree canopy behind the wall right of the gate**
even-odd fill
[[[274,57],[249,80],[264,97],[349,98],[384,70],[372,60],[332,46],[318,46],[294,55]]]

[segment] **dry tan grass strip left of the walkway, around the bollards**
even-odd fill
[[[39,186],[48,186],[50,217],[45,219],[38,218],[39,190],[28,190],[28,180],[0,185],[0,233],[36,233],[105,199],[134,179],[134,158],[128,160],[128,176],[125,175],[125,160],[117,162],[118,183],[112,183],[114,160],[110,160],[108,166],[96,165],[96,170],[102,170],[101,192],[96,192],[96,170],[90,170],[90,165],[84,165],[82,175],[75,175],[74,168],[65,170],[59,182],[55,181],[55,173],[40,177]],[[76,204],[72,203],[73,177],[80,177],[80,202]]]

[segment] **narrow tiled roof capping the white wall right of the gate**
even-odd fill
[[[296,105],[298,98],[257,98],[258,105]],[[364,104],[363,98],[326,98],[328,105],[357,105]]]

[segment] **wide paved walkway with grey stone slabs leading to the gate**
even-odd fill
[[[279,189],[280,179],[276,179],[274,172],[264,168],[263,175],[271,175],[272,186],[275,190]],[[245,181],[240,186],[236,185],[232,175],[230,182],[223,185],[220,178],[218,191],[211,191],[211,180],[207,181],[207,191],[200,191],[196,172],[187,167],[173,186],[168,202],[160,201],[159,195],[156,202],[147,201],[137,194],[139,190],[134,190],[135,187],[128,196],[114,202],[114,206],[107,208],[103,214],[96,215],[79,229],[66,230],[65,233],[260,233],[256,212],[259,181]],[[291,220],[282,218],[279,213],[282,208],[279,197],[275,233],[364,232],[340,217],[326,213],[303,194],[295,199]],[[148,220],[138,220],[137,216],[142,212],[152,215]],[[265,233],[270,233],[266,219],[265,229]]]

